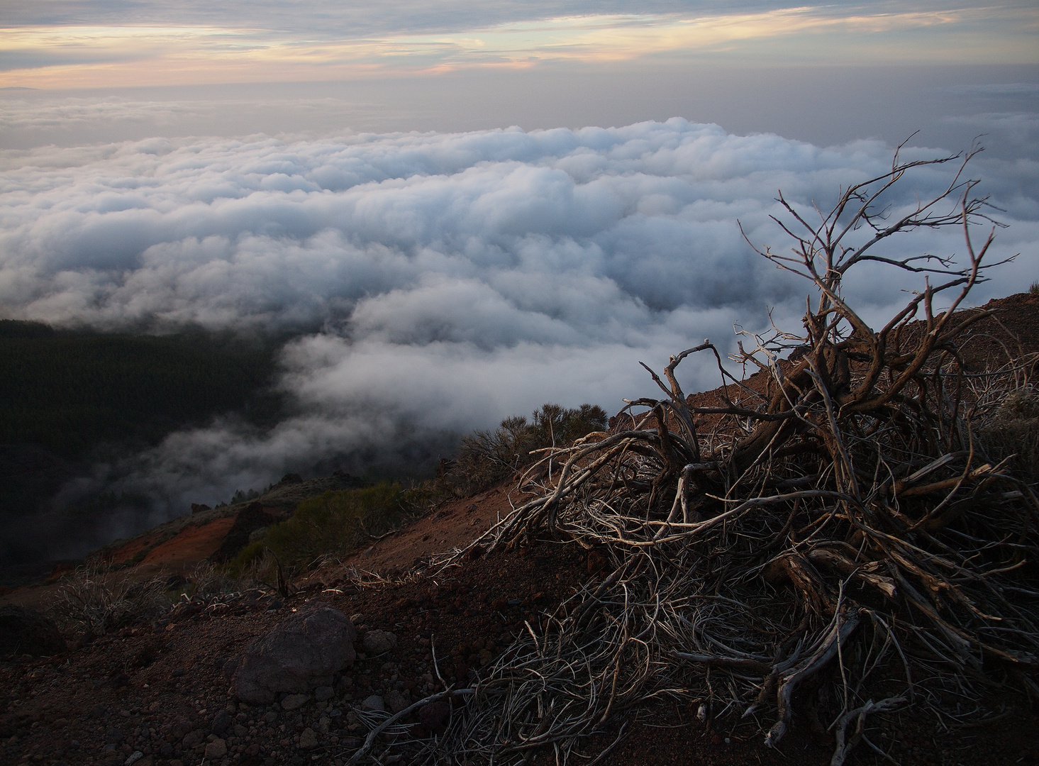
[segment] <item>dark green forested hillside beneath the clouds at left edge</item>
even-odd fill
[[[204,331],[100,334],[0,320],[0,443],[83,459],[153,445],[230,411],[272,423],[278,347]]]

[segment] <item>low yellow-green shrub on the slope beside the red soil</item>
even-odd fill
[[[231,571],[268,569],[269,550],[290,572],[310,569],[330,558],[343,558],[371,539],[392,531],[405,516],[400,484],[383,482],[362,490],[340,490],[303,500],[291,519],[275,524],[263,538],[249,543],[235,557]]]

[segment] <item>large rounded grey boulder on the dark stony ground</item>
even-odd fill
[[[240,698],[268,704],[282,692],[308,693],[331,684],[353,662],[357,631],[339,609],[308,604],[263,638],[249,642],[232,677]]]

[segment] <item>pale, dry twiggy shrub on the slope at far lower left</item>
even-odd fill
[[[161,614],[168,606],[165,578],[135,580],[127,572],[91,562],[62,579],[51,612],[65,633],[103,635]]]

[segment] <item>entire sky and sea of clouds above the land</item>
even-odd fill
[[[7,0],[0,24],[0,316],[295,334],[276,427],[223,418],[70,488],[154,499],[101,536],[545,401],[616,412],[654,394],[639,361],[797,329],[805,286],[740,226],[784,247],[780,189],[825,210],[907,138],[985,146],[1016,258],[971,301],[1039,279],[1034,2]],[[846,283],[871,321],[918,287]]]

